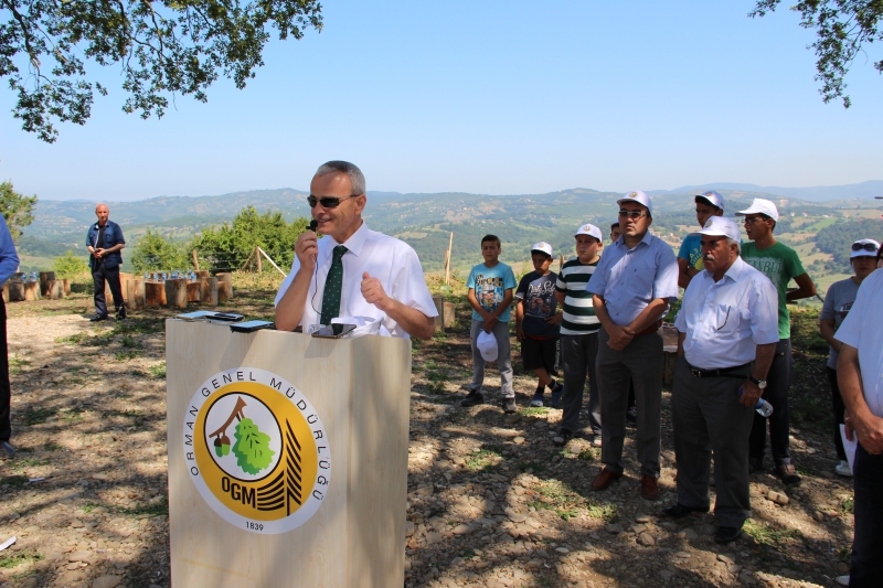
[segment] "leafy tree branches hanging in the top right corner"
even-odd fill
[[[764,17],[780,3],[781,0],[757,0],[748,15]],[[816,79],[822,83],[819,94],[826,103],[839,98],[849,108],[851,100],[843,78],[863,45],[883,41],[883,0],[802,0],[791,10],[800,13],[800,26],[817,33],[810,47],[818,57]],[[883,60],[874,62],[874,68],[883,73]]]

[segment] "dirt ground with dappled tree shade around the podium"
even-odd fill
[[[834,586],[848,571],[852,488],[832,473],[811,312],[795,316],[806,351],[796,353],[791,449],[804,482],[753,475],[753,518],[719,546],[711,515],[661,515],[675,501],[668,391],[660,500],[639,495],[634,429],[626,477],[591,492],[599,449],[578,436],[553,446],[561,411],[526,407],[535,381],[520,366],[518,415],[497,405],[492,367],[488,404],[459,406],[471,359],[468,313],[454,299],[457,327],[414,348],[405,586]],[[269,289],[241,288],[233,304],[266,318],[272,302]],[[9,306],[19,455],[0,462],[0,542],[18,542],[0,552],[0,588],[170,585],[162,321],[173,312],[97,325],[89,312],[85,295]]]

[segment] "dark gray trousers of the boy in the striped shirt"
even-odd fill
[[[564,364],[564,396],[561,398],[564,414],[561,428],[575,432],[579,428],[579,410],[583,409],[583,391],[588,375],[588,424],[592,432],[600,435],[600,395],[595,373],[598,355],[598,333],[585,335],[561,335],[561,362]]]

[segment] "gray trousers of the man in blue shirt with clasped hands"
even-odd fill
[[[641,474],[659,478],[659,451],[662,437],[662,335],[636,336],[623,351],[614,351],[610,335],[598,331],[598,356],[595,371],[600,389],[600,460],[614,473],[623,472],[623,445],[626,440],[628,383],[635,384],[638,408],[637,452]]]

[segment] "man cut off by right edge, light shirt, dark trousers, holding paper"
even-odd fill
[[[877,253],[877,263],[880,253]],[[883,579],[883,270],[862,282],[855,302],[834,333],[843,345],[837,381],[847,405],[847,434],[859,436],[855,481],[855,534],[851,588],[880,586]]]

